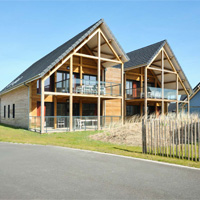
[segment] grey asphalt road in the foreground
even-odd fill
[[[200,199],[200,171],[68,148],[0,143],[0,199]]]

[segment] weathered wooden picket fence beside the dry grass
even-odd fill
[[[200,121],[144,119],[142,147],[146,154],[200,161]]]

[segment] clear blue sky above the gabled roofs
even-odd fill
[[[0,8],[0,90],[100,18],[125,52],[167,39],[191,86],[200,82],[198,1],[0,1]]]

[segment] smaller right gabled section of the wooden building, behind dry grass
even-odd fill
[[[191,86],[166,40],[127,53],[125,63],[126,116],[168,113],[170,103],[178,105]],[[184,101],[189,104],[189,101]]]

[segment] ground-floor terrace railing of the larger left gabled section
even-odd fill
[[[29,129],[40,132],[40,117],[29,117]],[[97,130],[97,116],[73,116],[73,130]],[[118,124],[121,116],[100,116],[101,129]],[[69,131],[69,116],[46,116],[44,122],[44,130],[48,132],[67,132]]]

